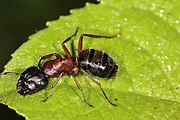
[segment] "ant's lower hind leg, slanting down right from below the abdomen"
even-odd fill
[[[101,84],[100,84],[100,82],[99,82],[98,80],[96,80],[95,78],[91,77],[91,76],[90,76],[86,71],[84,71],[83,69],[81,69],[81,71],[82,71],[84,74],[86,74],[86,75],[87,75],[92,81],[94,81],[97,85],[99,85],[99,87],[101,88],[101,91],[103,92],[104,97],[106,98],[106,100],[108,100],[108,102],[109,102],[111,105],[117,106],[116,104],[112,103],[112,102],[108,99],[106,93],[104,92],[104,90],[103,90],[103,88],[102,88],[102,86],[101,86]]]

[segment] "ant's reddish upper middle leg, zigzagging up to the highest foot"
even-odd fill
[[[66,48],[65,43],[68,42],[69,40],[71,40],[72,37],[76,36],[76,34],[77,34],[77,32],[78,32],[78,29],[79,29],[79,28],[77,28],[76,31],[75,31],[75,33],[74,33],[73,35],[71,35],[70,37],[68,37],[67,39],[65,39],[65,40],[62,42],[62,44],[61,44],[61,46],[62,46],[64,52],[66,53],[66,55],[68,56],[68,58],[72,58],[72,55],[71,55],[71,53],[69,52],[69,50]]]

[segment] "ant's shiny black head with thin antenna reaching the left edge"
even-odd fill
[[[36,66],[27,68],[23,73],[4,72],[0,75],[19,75],[18,83],[16,85],[17,91],[21,95],[33,94],[48,84],[47,76]]]

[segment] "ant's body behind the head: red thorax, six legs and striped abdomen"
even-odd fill
[[[62,58],[61,55],[59,55],[58,53],[53,53],[53,54],[42,56],[39,60],[38,67],[41,69],[41,71],[44,74],[48,76],[48,78],[57,77],[57,80],[53,83],[47,97],[43,100],[43,102],[45,102],[49,98],[53,88],[59,82],[60,78],[65,74],[70,74],[73,77],[74,82],[76,83],[77,87],[81,91],[85,103],[89,105],[90,107],[93,107],[93,105],[89,104],[86,101],[83,90],[76,79],[77,74],[84,73],[92,81],[94,81],[97,85],[99,85],[100,89],[103,92],[104,97],[108,100],[108,102],[111,105],[116,106],[116,104],[112,103],[108,99],[100,82],[96,80],[95,78],[91,77],[87,72],[90,72],[92,75],[95,75],[101,78],[111,78],[115,76],[118,66],[109,55],[107,55],[106,53],[100,50],[95,50],[95,49],[82,50],[82,42],[83,42],[84,36],[91,37],[91,38],[113,38],[113,37],[116,37],[117,35],[100,36],[100,35],[93,35],[93,34],[81,34],[79,38],[79,43],[78,43],[78,57],[75,58],[71,55],[69,50],[66,48],[65,43],[70,41],[71,38],[77,34],[77,32],[78,32],[78,29],[75,31],[75,33],[72,36],[65,39],[61,44],[65,54],[67,55],[66,58]],[[46,60],[53,56],[55,56],[56,59],[46,61],[41,65],[42,60]]]

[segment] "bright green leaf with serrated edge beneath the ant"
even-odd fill
[[[0,100],[26,119],[180,119],[180,2],[178,0],[101,0],[98,5],[72,10],[69,16],[47,22],[47,28],[30,36],[12,56],[5,71],[22,72],[37,65],[41,56],[58,52],[72,35],[75,49],[80,34],[121,34],[113,39],[84,38],[83,48],[108,53],[118,64],[115,78],[100,80],[100,88],[85,75],[78,75],[87,101],[70,76],[63,76],[47,102],[41,102],[55,81],[42,91],[19,95],[17,76],[2,76]],[[66,44],[70,49],[70,44]]]

